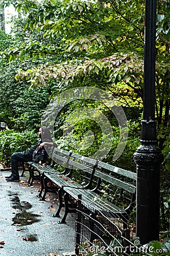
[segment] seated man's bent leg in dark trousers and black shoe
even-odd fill
[[[8,181],[18,181],[19,172],[18,172],[18,162],[25,162],[24,152],[15,152],[11,155],[11,177]]]

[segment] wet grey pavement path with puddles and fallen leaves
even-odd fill
[[[40,201],[39,181],[28,187],[28,176],[12,183],[6,181],[8,175],[8,171],[0,172],[0,255],[47,256],[74,252],[75,215],[68,214],[67,224],[58,224],[60,218],[52,217],[58,205],[57,195],[48,194],[46,201]]]

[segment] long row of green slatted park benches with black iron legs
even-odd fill
[[[39,172],[39,197],[44,191],[41,200],[45,200],[47,192],[58,193],[59,206],[54,217],[59,217],[61,208],[65,207],[60,222],[66,223],[67,214],[76,209],[73,201],[80,200],[82,207],[94,212],[97,210],[121,217],[126,228],[128,216],[135,205],[137,175],[134,172],[59,148],[51,148],[50,159],[52,161],[44,166],[29,162],[29,183],[35,179],[34,172]],[[55,186],[49,185],[48,181],[53,181]],[[72,203],[70,198],[74,199]],[[120,207],[122,202],[126,207]]]

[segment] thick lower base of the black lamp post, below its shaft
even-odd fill
[[[159,240],[160,163],[155,141],[141,141],[134,153],[137,163],[137,237],[145,244]]]

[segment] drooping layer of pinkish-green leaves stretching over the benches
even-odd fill
[[[112,70],[112,72],[111,72]],[[143,62],[139,61],[134,53],[114,53],[100,60],[86,59],[71,60],[61,64],[42,65],[36,69],[28,69],[23,72],[19,69],[16,80],[26,78],[32,85],[46,85],[50,80],[60,81],[58,86],[65,80],[67,84],[73,82],[75,77],[103,76],[103,81],[113,83],[118,81],[135,81],[139,84],[137,76],[143,71]],[[33,80],[33,81],[32,81]]]

